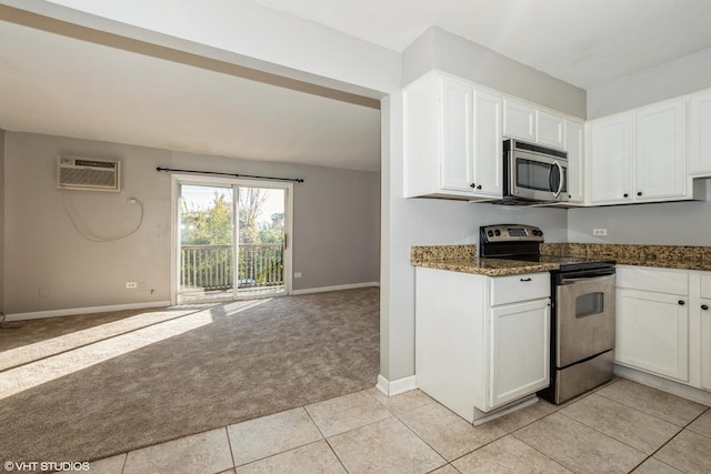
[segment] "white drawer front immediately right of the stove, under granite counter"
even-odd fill
[[[620,266],[617,270],[618,288],[689,295],[689,273],[645,266]]]

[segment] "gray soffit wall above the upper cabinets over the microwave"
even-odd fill
[[[402,83],[438,69],[580,119],[585,91],[481,44],[431,27],[402,53]]]

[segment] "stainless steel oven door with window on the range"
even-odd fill
[[[565,367],[614,347],[614,270],[560,274],[555,285],[555,365]]]

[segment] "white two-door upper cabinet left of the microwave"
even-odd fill
[[[501,107],[500,97],[439,72],[408,85],[405,198],[501,198]]]

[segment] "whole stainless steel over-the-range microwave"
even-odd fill
[[[519,140],[503,142],[503,199],[495,204],[567,202],[568,153]]]

